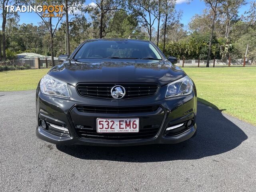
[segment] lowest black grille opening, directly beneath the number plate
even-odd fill
[[[129,139],[147,139],[154,137],[160,128],[160,124],[144,126],[138,133],[97,133],[93,129],[78,129],[76,131],[82,138],[111,139],[111,140],[129,140]]]

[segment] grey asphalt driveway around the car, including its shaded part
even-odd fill
[[[200,103],[197,125],[176,145],[56,147],[34,90],[0,92],[0,191],[255,191],[256,127]]]

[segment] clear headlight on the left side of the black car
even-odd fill
[[[43,94],[46,95],[70,97],[67,84],[56,78],[51,77],[48,74],[41,79],[40,90]]]

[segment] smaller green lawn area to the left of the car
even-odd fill
[[[0,72],[0,91],[36,89],[39,80],[50,69],[30,69]]]

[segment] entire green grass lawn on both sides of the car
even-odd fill
[[[183,69],[196,84],[198,101],[256,125],[256,67]],[[0,91],[36,89],[48,70],[0,72]]]

